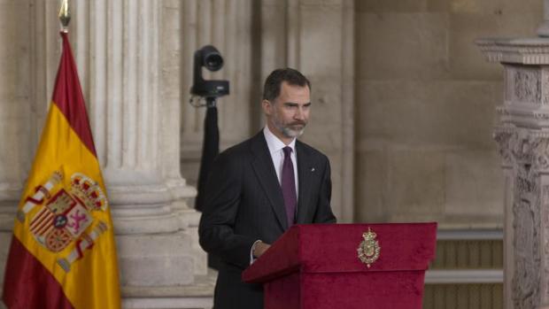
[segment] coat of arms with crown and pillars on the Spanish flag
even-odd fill
[[[38,243],[53,253],[59,253],[73,243],[73,250],[58,259],[59,266],[69,272],[71,264],[81,259],[83,251],[91,249],[97,237],[108,229],[106,222],[96,220],[92,214],[104,212],[108,202],[103,189],[89,176],[75,173],[70,186],[58,188],[63,179],[61,171],[54,172],[26,198],[17,217],[25,222],[37,208],[32,212],[30,232]]]

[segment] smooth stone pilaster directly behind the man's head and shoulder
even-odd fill
[[[312,116],[303,140],[328,155],[332,208],[339,222],[352,222],[354,2],[263,1],[261,29],[261,81],[275,68],[290,66],[312,82]]]

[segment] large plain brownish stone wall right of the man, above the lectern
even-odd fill
[[[474,40],[530,35],[542,2],[358,1],[358,221],[494,228],[503,173],[492,140],[501,68]]]

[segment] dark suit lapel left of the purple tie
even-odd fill
[[[286,221],[284,197],[282,196],[282,189],[280,183],[278,183],[276,172],[274,171],[273,159],[268,151],[263,131],[260,131],[259,134],[253,138],[251,152],[255,157],[253,162],[251,162],[251,166],[253,166],[259,183],[261,184],[261,187],[263,187],[263,190],[273,207],[276,220],[278,220],[282,229],[286,230],[288,229],[288,222]]]

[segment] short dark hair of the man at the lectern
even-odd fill
[[[276,69],[269,74],[267,80],[265,80],[265,86],[263,87],[263,99],[269,102],[273,102],[275,98],[280,96],[280,89],[282,81],[286,81],[292,86],[307,86],[311,90],[311,82],[300,73],[298,70],[286,67],[283,69]]]

